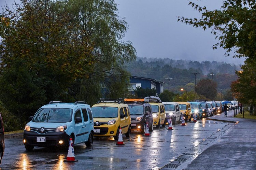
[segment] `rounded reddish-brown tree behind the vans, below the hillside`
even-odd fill
[[[210,79],[201,79],[197,83],[195,91],[199,95],[214,100],[217,95],[217,83]]]

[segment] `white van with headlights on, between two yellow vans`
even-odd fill
[[[180,105],[176,102],[162,102],[165,106],[166,122],[168,123],[169,119],[172,119],[172,124],[180,123],[181,111]]]

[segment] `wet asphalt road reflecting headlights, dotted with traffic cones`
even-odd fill
[[[222,113],[224,114],[224,113]],[[174,125],[155,128],[151,137],[132,133],[130,138],[123,135],[125,146],[116,146],[113,138],[94,138],[91,148],[85,144],[74,146],[76,163],[64,163],[67,151],[51,151],[35,147],[26,151],[23,138],[5,140],[3,169],[168,169],[172,162],[195,159],[211,146],[218,136],[233,123],[198,120],[186,126]],[[166,125],[167,126],[167,125]],[[186,161],[180,168],[186,167]],[[182,161],[181,161],[182,163]],[[167,166],[166,166],[167,165]],[[179,169],[180,169],[179,168]]]

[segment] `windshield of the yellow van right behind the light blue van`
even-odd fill
[[[118,116],[117,107],[92,107],[91,112],[93,112],[94,118],[117,118]]]

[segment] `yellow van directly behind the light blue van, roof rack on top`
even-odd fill
[[[118,139],[119,129],[130,137],[131,116],[128,105],[123,99],[104,99],[91,107],[94,117],[94,136],[113,136]]]

